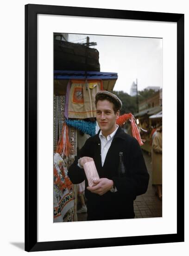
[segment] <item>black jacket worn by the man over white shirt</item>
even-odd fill
[[[123,152],[123,162],[126,168],[126,173],[121,178],[118,175],[119,152]],[[79,151],[68,172],[72,183],[77,184],[85,180],[86,188],[88,181],[85,172],[77,166],[78,159],[82,156],[92,157],[99,177],[113,180],[118,190],[115,193],[108,191],[104,195],[98,195],[85,189],[85,196],[88,199],[88,220],[133,218],[135,216],[133,201],[137,195],[146,192],[149,181],[149,174],[138,141],[119,127],[102,167],[99,133],[90,137]]]

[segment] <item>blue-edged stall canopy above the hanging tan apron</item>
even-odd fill
[[[54,71],[54,94],[59,95],[66,92],[68,81],[75,80],[103,80],[103,88],[107,91],[113,91],[116,80],[118,79],[117,73],[111,72],[98,72],[98,71],[70,71],[70,70],[55,70]]]

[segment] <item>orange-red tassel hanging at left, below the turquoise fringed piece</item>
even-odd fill
[[[60,155],[69,156],[70,148],[71,148],[71,144],[69,142],[68,126],[66,123],[63,123],[63,130],[57,144],[56,153]]]

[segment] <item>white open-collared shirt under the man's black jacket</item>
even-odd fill
[[[113,131],[113,133],[111,133],[110,135],[107,135],[107,138],[102,134],[102,131],[100,131],[99,134],[99,138],[101,140],[101,162],[102,162],[102,166],[104,165],[106,156],[107,156],[107,151],[111,146],[113,137],[115,135],[115,133],[117,132],[117,129],[119,128],[119,126],[116,124],[116,129]]]

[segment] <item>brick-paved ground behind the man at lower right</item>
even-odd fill
[[[146,167],[150,175],[150,181],[147,192],[144,195],[137,196],[134,201],[134,212],[136,218],[162,217],[162,202],[155,195],[155,188],[151,185],[151,157],[143,151]],[[87,214],[78,214],[78,221],[86,221]]]

